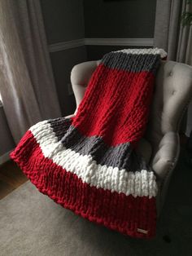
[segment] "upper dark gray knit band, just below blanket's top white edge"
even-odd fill
[[[110,52],[103,56],[102,63],[108,68],[116,68],[134,73],[142,71],[155,73],[159,66],[159,55]]]

